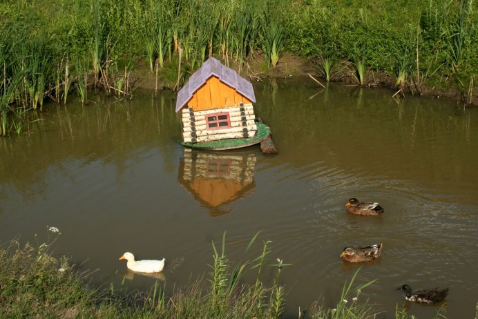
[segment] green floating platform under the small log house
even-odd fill
[[[233,148],[242,148],[251,146],[254,144],[258,144],[266,139],[271,134],[271,129],[269,126],[256,122],[257,125],[257,135],[254,137],[248,137],[243,139],[219,139],[218,141],[211,141],[211,142],[200,142],[200,143],[189,143],[189,142],[182,142],[183,146],[191,147],[191,148],[201,148],[203,150],[215,150],[215,151],[222,151],[222,150],[231,150]]]

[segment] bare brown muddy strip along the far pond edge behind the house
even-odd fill
[[[256,57],[251,57],[248,59],[247,64],[242,66],[240,70],[240,75],[249,79],[249,81],[262,81],[262,79],[287,79],[289,77],[307,77],[307,81],[313,81],[309,78],[307,73],[313,75],[316,79],[321,81],[322,84],[326,84],[325,79],[320,77],[320,72],[318,68],[314,66],[312,59],[299,57],[297,55],[291,55],[289,53],[284,54],[280,58],[278,65],[275,68],[270,68],[267,71],[264,71],[265,61],[256,54]],[[229,61],[229,67],[234,70],[238,70],[238,66],[233,62]],[[135,68],[133,68],[131,77],[137,77],[138,81],[135,83],[135,86],[140,88],[155,89],[156,79],[155,73],[150,72],[146,66],[145,61],[137,61]],[[366,84],[364,87],[375,87],[381,86],[385,88],[390,88],[390,96],[394,95],[399,88],[395,86],[396,76],[386,75],[385,72],[380,71],[371,71],[368,70],[366,75]],[[334,81],[343,82],[346,85],[356,85],[356,79],[354,76],[354,70],[352,68],[344,69],[343,74],[340,77],[334,79]],[[172,89],[175,86],[174,81],[166,81],[164,79],[158,80],[157,88],[158,90],[168,90]],[[319,84],[317,84],[320,88]],[[405,97],[412,95],[419,95],[417,89],[413,83],[407,83],[404,90]],[[444,87],[443,85],[437,85],[434,87],[423,84],[421,86],[421,95],[426,97],[449,97],[455,99],[459,103],[464,103],[463,94],[458,88]],[[399,97],[397,94],[396,97]],[[472,106],[478,106],[478,86],[473,88]]]

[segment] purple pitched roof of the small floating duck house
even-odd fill
[[[210,57],[200,68],[198,68],[198,70],[196,70],[196,72],[194,72],[193,75],[191,75],[187,83],[178,92],[178,99],[176,99],[176,112],[187,104],[187,101],[191,99],[195,91],[198,90],[202,84],[206,83],[207,79],[213,75],[218,77],[219,81],[222,83],[227,84],[241,95],[247,97],[247,99],[250,99],[253,102],[256,101],[251,82],[240,77],[235,70],[221,64],[218,59]]]

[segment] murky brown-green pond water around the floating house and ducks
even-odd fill
[[[251,260],[271,240],[270,263],[286,263],[287,316],[314,300],[334,307],[347,278],[343,247],[383,242],[381,258],[356,279],[393,318],[405,305],[418,318],[438,307],[412,305],[395,289],[450,287],[448,318],[473,318],[478,302],[478,109],[449,99],[393,99],[391,90],[310,79],[254,83],[256,114],[271,127],[278,155],[258,146],[190,151],[180,145],[175,93],[131,100],[72,95],[51,105],[32,133],[0,139],[0,240],[61,235],[68,255],[93,282],[149,290],[157,278],[126,271],[125,251],[166,258],[169,293],[209,276],[213,249],[227,231],[226,254]],[[347,214],[350,197],[380,202],[385,213]],[[249,240],[261,231],[251,251]],[[50,234],[51,235],[51,234]],[[265,273],[268,282],[272,268]],[[247,278],[246,278],[247,280]]]

